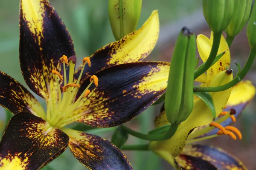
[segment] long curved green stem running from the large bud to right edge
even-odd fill
[[[203,88],[195,87],[194,92],[216,92],[216,91],[224,91],[229,88],[232,88],[234,85],[239,83],[245,77],[245,75],[248,73],[251,66],[253,65],[255,56],[256,56],[256,49],[251,49],[249,57],[247,59],[247,62],[245,63],[242,70],[239,73],[237,73],[236,78],[234,78],[232,81],[228,82],[227,84],[221,85],[218,87],[203,87]]]

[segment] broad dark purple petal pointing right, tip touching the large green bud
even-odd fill
[[[169,62],[134,62],[98,72],[99,86],[90,89],[73,121],[113,127],[133,119],[166,91],[169,67]],[[78,96],[89,83],[90,78],[84,81]]]

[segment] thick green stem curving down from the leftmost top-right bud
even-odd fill
[[[209,55],[207,61],[204,63],[204,66],[201,67],[200,69],[197,69],[197,71],[195,71],[194,79],[198,78],[201,74],[206,72],[211,67],[212,62],[214,61],[214,59],[218,53],[220,41],[221,41],[221,33],[213,34],[213,42],[212,42],[212,49],[211,49],[210,55]]]

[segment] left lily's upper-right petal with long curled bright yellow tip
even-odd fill
[[[105,68],[143,60],[153,50],[158,36],[159,18],[158,11],[155,10],[140,29],[126,35],[119,41],[105,45],[91,55],[91,67],[84,68],[80,84],[90,75]],[[81,68],[82,65],[76,70],[74,79],[78,79]]]

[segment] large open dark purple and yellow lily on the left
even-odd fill
[[[152,51],[158,34],[153,11],[140,29],[84,57],[75,71],[73,41],[49,1],[20,0],[20,67],[29,88],[46,100],[47,111],[0,72],[0,105],[14,113],[0,142],[0,168],[40,169],[69,147],[89,169],[132,169],[111,142],[66,125],[121,125],[155,102],[166,90],[169,63],[139,61]]]

